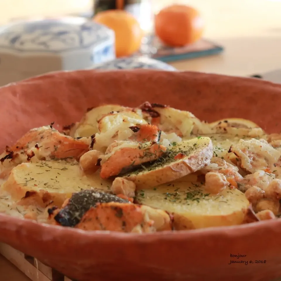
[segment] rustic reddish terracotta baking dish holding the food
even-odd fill
[[[280,132],[281,85],[194,72],[75,71],[0,88],[1,150],[30,128],[79,120],[102,103],[146,100],[201,119],[250,119]],[[77,280],[272,280],[281,276],[281,220],[156,234],[84,232],[0,215],[0,242]],[[234,258],[231,255],[245,255]],[[230,263],[230,260],[245,263]],[[255,261],[266,261],[255,263]],[[253,263],[250,263],[252,261]]]

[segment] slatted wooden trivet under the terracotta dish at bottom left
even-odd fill
[[[0,243],[0,254],[32,281],[75,281],[7,244]]]

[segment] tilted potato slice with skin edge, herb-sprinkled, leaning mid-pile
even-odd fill
[[[124,175],[137,189],[146,189],[191,174],[210,163],[213,145],[210,138],[198,137],[177,143],[156,162]]]

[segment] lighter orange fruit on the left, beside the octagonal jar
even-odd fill
[[[97,13],[93,20],[114,30],[116,57],[129,56],[140,48],[143,30],[130,13],[107,10]]]

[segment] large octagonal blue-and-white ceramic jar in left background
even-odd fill
[[[114,31],[85,18],[15,22],[0,28],[0,86],[50,71],[115,59]]]

